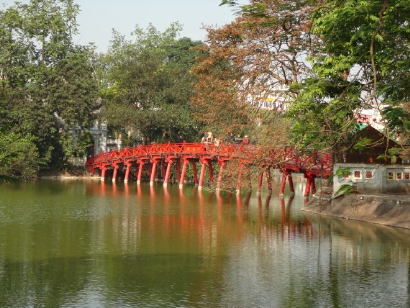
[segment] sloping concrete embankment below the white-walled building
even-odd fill
[[[410,229],[410,195],[351,194],[330,200],[318,193],[302,211]]]

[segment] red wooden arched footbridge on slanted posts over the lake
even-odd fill
[[[196,163],[201,164],[200,174]],[[168,185],[171,168],[175,164],[177,180],[183,185],[188,164],[192,165],[194,183],[201,189],[206,176],[208,166],[208,176],[210,182],[214,181],[213,164],[219,164],[219,175],[216,189],[221,188],[223,172],[226,164],[233,162],[238,166],[237,191],[241,187],[242,177],[249,175],[249,166],[259,164],[260,173],[258,181],[258,192],[260,192],[263,175],[267,179],[268,189],[271,190],[271,169],[279,169],[282,172],[282,186],[280,194],[284,194],[286,179],[288,180],[290,191],[294,192],[292,173],[302,173],[308,180],[305,188],[305,196],[309,196],[310,191],[315,192],[315,178],[326,179],[332,174],[333,161],[327,153],[316,151],[295,150],[290,147],[274,149],[266,153],[258,146],[243,146],[234,144],[220,144],[218,147],[213,144],[203,143],[167,143],[140,145],[137,147],[112,150],[91,157],[86,165],[89,171],[94,174],[100,170],[101,178],[104,179],[106,171],[113,169],[113,178],[117,178],[118,170],[125,168],[124,181],[128,181],[131,167],[137,168],[137,183],[141,182],[144,166],[147,166],[150,183],[153,184],[157,165],[162,166],[163,184]],[[182,164],[182,170],[181,170]]]

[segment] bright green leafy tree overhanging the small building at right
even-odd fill
[[[410,3],[327,1],[312,18],[312,31],[323,44],[311,56],[312,74],[300,84],[289,116],[296,120],[293,132],[302,146],[340,154],[354,145],[363,108],[390,105],[386,111],[393,124],[397,117],[391,111],[408,102],[403,80],[409,77]]]

